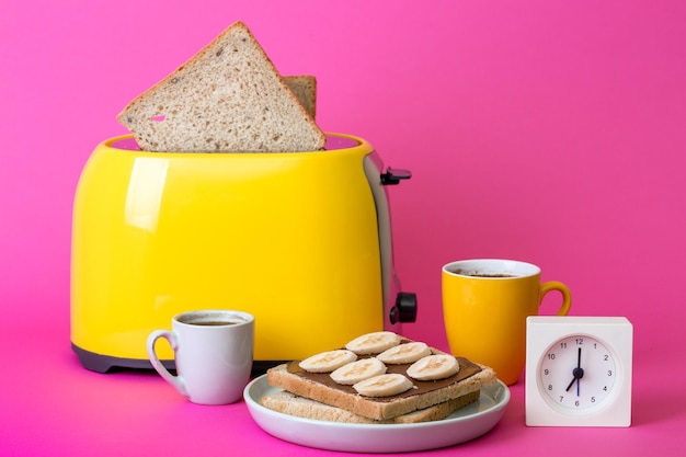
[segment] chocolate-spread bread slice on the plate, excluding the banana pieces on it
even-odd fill
[[[410,340],[405,339],[401,344],[408,342]],[[436,349],[432,349],[432,353],[443,354]],[[462,357],[457,357],[457,361],[460,368],[456,375],[431,381],[412,379],[414,388],[392,397],[363,397],[352,386],[334,382],[327,373],[309,373],[301,369],[298,361],[270,368],[267,382],[297,396],[382,421],[479,391],[482,387],[496,381],[492,368]],[[410,364],[387,365],[387,373],[407,376],[409,366]]]

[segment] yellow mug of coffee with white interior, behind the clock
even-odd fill
[[[558,316],[572,304],[569,288],[540,282],[540,269],[526,262],[477,259],[443,266],[443,316],[450,352],[493,368],[516,384],[526,362],[526,318],[539,313],[550,290],[562,294]]]

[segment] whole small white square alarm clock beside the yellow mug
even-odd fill
[[[526,424],[630,426],[632,346],[626,318],[527,318]]]

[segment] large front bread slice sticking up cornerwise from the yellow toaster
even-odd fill
[[[325,136],[237,22],[117,116],[144,150],[297,152]]]

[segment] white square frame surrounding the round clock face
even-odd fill
[[[633,327],[622,317],[531,316],[527,318],[525,408],[528,426],[630,426]],[[613,391],[598,405],[554,404],[540,382],[542,357],[561,340],[593,338],[617,367]]]

